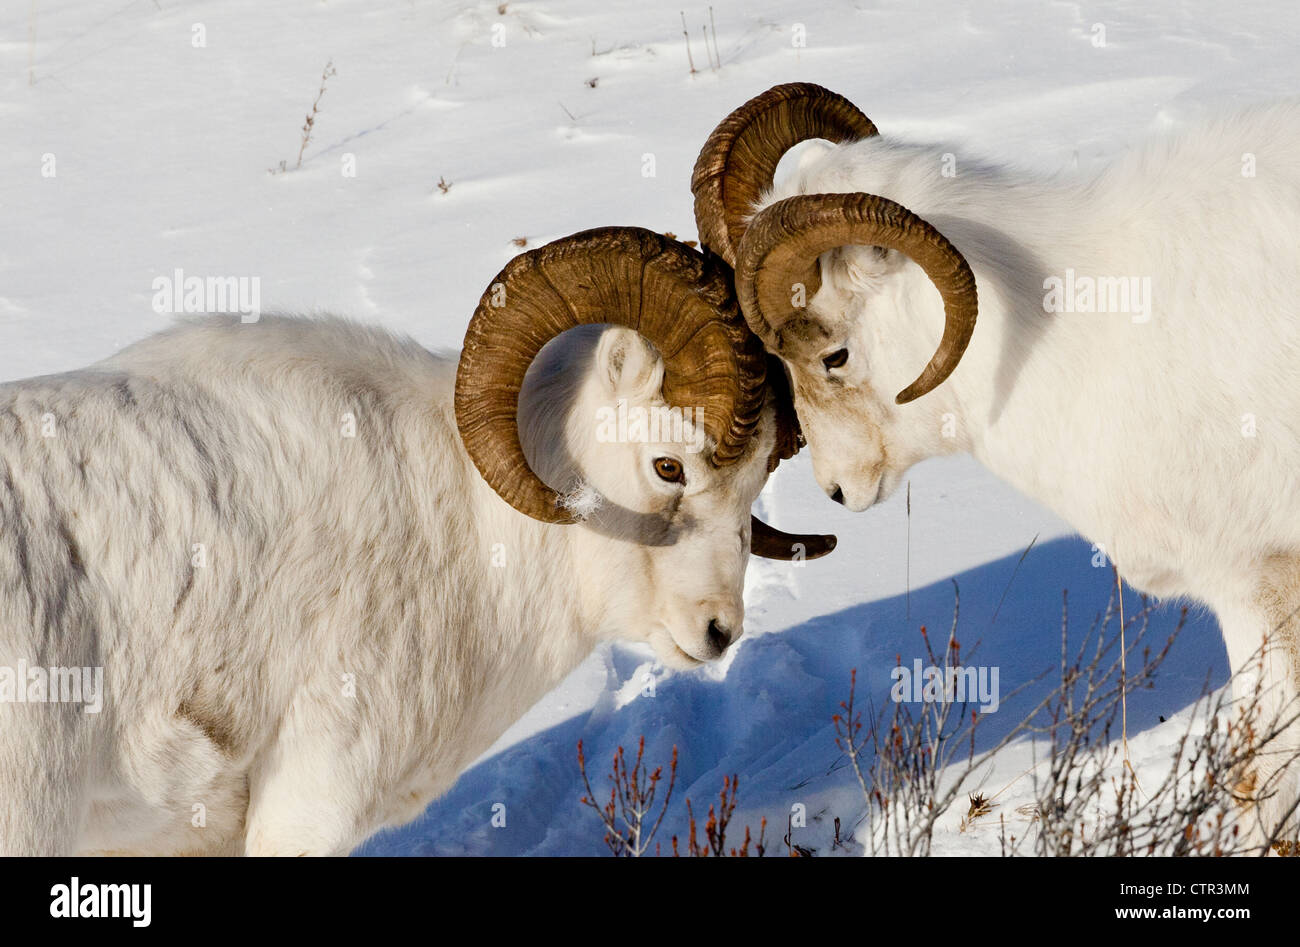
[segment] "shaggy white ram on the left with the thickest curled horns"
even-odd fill
[[[833,539],[751,532],[766,371],[724,268],[607,228],[515,258],[459,368],[211,317],[0,386],[0,852],[347,853],[598,640],[719,657],[751,539]]]

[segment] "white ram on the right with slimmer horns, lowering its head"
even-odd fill
[[[810,139],[829,144],[774,185]],[[692,190],[828,496],[864,510],[918,460],[967,451],[1132,585],[1213,609],[1234,673],[1294,714],[1300,103],[1039,177],[785,85],[715,129]],[[1266,831],[1300,797],[1297,747],[1292,730],[1242,774],[1269,795]]]

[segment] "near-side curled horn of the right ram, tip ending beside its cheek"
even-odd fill
[[[771,349],[796,298],[820,286],[818,256],[833,247],[888,247],[911,258],[944,299],[944,336],[920,376],[898,393],[905,405],[937,388],[975,330],[975,274],[957,247],[902,204],[875,194],[810,194],[779,200],[750,222],[740,246],[736,294],[750,328]],[[797,291],[802,287],[802,291]]]

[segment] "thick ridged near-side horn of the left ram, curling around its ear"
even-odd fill
[[[599,228],[520,254],[484,293],[456,371],[456,425],[471,459],[511,506],[547,523],[575,516],[528,466],[519,392],[550,340],[584,324],[636,329],[664,360],[664,399],[696,411],[715,466],[733,463],[763,406],[764,355],[729,273],[673,239]]]

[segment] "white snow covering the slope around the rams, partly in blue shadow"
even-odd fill
[[[458,347],[519,239],[608,224],[693,238],[699,146],[777,82],[835,88],[887,135],[1058,169],[1205,109],[1294,92],[1300,39],[1300,13],[1277,0],[1252,14],[1210,0],[714,0],[712,16],[716,70],[702,0],[6,4],[0,379],[83,366],[162,328],[172,316],[153,311],[152,281],[177,268],[257,277],[266,311],[344,313]],[[299,169],[326,62],[337,74]],[[783,464],[759,511],[840,545],[802,566],[754,561],[745,639],[723,662],[671,673],[649,649],[602,647],[421,820],[361,851],[601,852],[575,745],[601,782],[614,749],[644,734],[654,762],[679,747],[679,800],[698,812],[738,773],[737,822],[784,826],[803,804],[794,840],[826,852],[831,821],[863,812],[831,725],[850,669],[859,697],[887,701],[889,669],[920,653],[919,626],[946,631],[956,579],[959,637],[980,641],[1005,695],[1056,666],[1062,589],[1083,634],[1113,584],[1065,523],[968,458],[920,464],[910,489],[910,516],[902,490],[854,515],[819,493],[806,455]],[[1164,606],[1157,631],[1176,613]],[[1158,775],[1186,708],[1226,676],[1218,628],[1195,611],[1156,688],[1130,701],[1139,773]],[[982,741],[1035,695],[1041,684],[1004,699]],[[994,792],[1010,784],[1002,812],[1032,795],[1018,777],[1030,756],[1018,744],[984,775]],[[996,853],[994,833],[961,833],[950,814],[936,851]],[[662,838],[681,830],[675,807]]]

